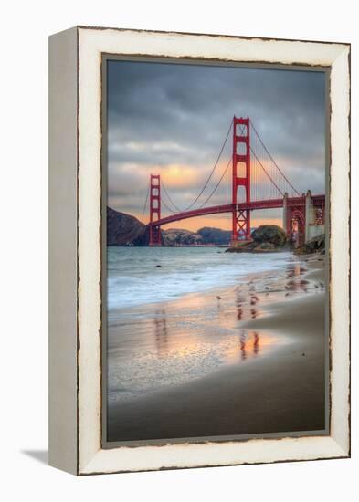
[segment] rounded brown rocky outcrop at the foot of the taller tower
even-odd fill
[[[273,253],[290,246],[284,231],[277,225],[260,225],[253,230],[251,237],[250,242],[231,246],[226,253]]]

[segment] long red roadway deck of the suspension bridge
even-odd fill
[[[325,204],[325,195],[312,195],[312,202],[315,205]],[[305,205],[305,195],[301,197],[288,197],[287,204],[290,207],[302,207]],[[258,209],[275,209],[283,207],[283,198],[280,199],[268,199],[252,201],[250,203],[240,203],[237,204],[239,211],[249,210],[254,211]],[[235,208],[235,204],[223,204],[223,205],[212,205],[209,207],[203,207],[201,209],[193,209],[192,211],[184,211],[183,213],[171,214],[165,218],[154,221],[153,226],[167,225],[169,223],[177,222],[180,220],[185,220],[188,218],[195,218],[196,216],[206,216],[208,214],[221,214],[221,213],[232,213]]]

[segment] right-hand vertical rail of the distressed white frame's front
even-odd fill
[[[333,61],[331,165],[331,309],[332,309],[332,435],[349,450],[350,311],[349,311],[349,47]]]

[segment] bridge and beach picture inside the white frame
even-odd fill
[[[105,443],[328,434],[325,68],[103,65]]]

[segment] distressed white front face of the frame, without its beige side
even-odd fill
[[[100,447],[101,53],[332,66],[332,434],[246,442]],[[349,451],[349,47],[79,28],[79,474],[346,456]]]

